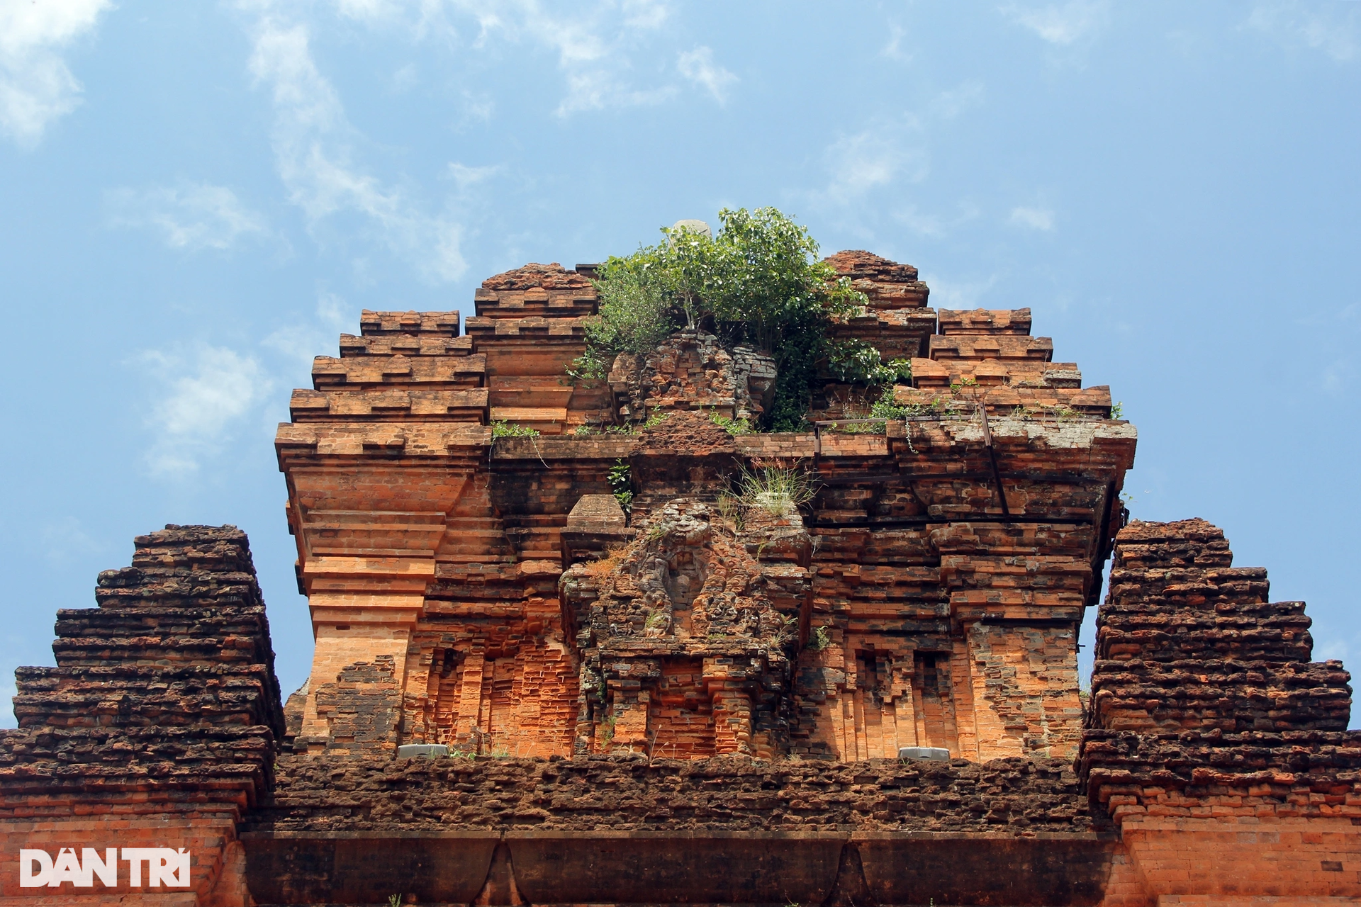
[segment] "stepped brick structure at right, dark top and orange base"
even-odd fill
[[[1116,540],[1078,768],[1160,903],[1361,897],[1350,674],[1267,593],[1203,519]]]

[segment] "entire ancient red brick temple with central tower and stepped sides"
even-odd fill
[[[1361,899],[1304,605],[1210,524],[1127,521],[1135,430],[1029,310],[829,261],[906,415],[829,378],[749,434],[773,359],[702,330],[573,381],[584,265],[486,280],[463,330],[365,313],[276,439],[308,684],[280,703],[241,532],[139,537],[18,672],[0,903]]]

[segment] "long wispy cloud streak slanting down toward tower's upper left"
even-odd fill
[[[400,189],[384,186],[352,160],[354,129],[312,58],[306,26],[265,15],[249,68],[272,90],[275,163],[293,204],[313,223],[340,212],[367,218],[388,247],[430,280],[463,275],[460,226],[421,211]]]

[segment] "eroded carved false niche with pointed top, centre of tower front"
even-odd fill
[[[780,524],[781,555],[799,543],[806,553],[808,538],[798,513],[761,529],[734,522],[712,504],[672,499],[632,544],[563,572],[583,664],[580,752],[770,757],[787,749],[807,579],[791,577],[783,559],[759,560],[762,530]]]

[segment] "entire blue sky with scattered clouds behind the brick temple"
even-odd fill
[[[1141,430],[1134,514],[1361,668],[1358,75],[1341,0],[0,0],[0,696],[166,522],[250,534],[301,684],[310,358],[724,205],[1030,306]]]

